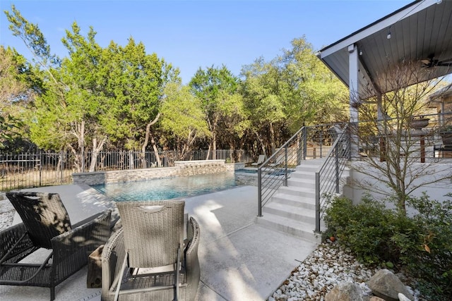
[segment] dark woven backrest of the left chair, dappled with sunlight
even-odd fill
[[[52,238],[71,230],[71,220],[58,193],[6,192],[36,247],[52,249]]]

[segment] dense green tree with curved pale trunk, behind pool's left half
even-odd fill
[[[151,142],[157,163],[158,149],[151,133],[151,125],[158,121],[163,89],[167,82],[178,82],[179,70],[172,68],[157,54],[146,54],[143,43],[129,39],[126,47],[113,42],[105,49],[102,61],[105,74],[104,94],[109,111],[105,111],[102,124],[114,140],[124,138],[127,149],[144,152]]]

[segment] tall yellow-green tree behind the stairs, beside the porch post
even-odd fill
[[[347,120],[346,87],[324,66],[304,37],[266,62],[242,68],[242,92],[262,152],[274,152],[302,125]]]

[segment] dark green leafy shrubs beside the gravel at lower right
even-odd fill
[[[451,197],[451,195],[448,195]],[[328,231],[366,264],[395,265],[418,279],[429,300],[452,294],[452,202],[410,197],[416,214],[405,216],[364,197],[354,205],[333,199],[326,210]]]

